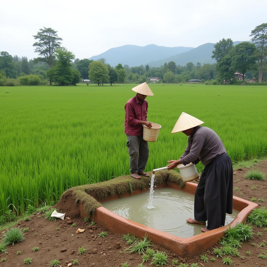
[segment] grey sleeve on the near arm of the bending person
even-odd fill
[[[189,164],[190,162],[199,162],[198,156],[203,148],[205,139],[205,136],[201,134],[194,135],[189,153],[181,159],[183,165]]]

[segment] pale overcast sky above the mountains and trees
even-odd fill
[[[266,8],[266,0],[2,1],[0,51],[38,57],[33,35],[44,27],[56,30],[61,46],[79,59],[122,45],[249,41],[251,31],[267,23]]]

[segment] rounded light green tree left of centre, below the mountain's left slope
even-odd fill
[[[103,85],[109,81],[108,67],[100,61],[91,62],[89,64],[89,78],[97,83],[97,85]]]

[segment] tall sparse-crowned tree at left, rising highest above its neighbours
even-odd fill
[[[57,31],[52,28],[39,29],[37,35],[33,35],[35,40],[38,40],[33,44],[35,47],[34,52],[38,53],[37,60],[44,61],[48,64],[48,69],[52,68],[55,56],[55,50],[60,47],[62,38],[58,37]],[[50,85],[52,81],[49,81]]]

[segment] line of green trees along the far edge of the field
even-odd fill
[[[96,61],[75,58],[75,55],[61,46],[62,38],[52,28],[40,29],[34,39],[34,51],[38,53],[33,60],[27,57],[11,56],[0,52],[0,85],[75,85],[81,79],[90,79],[97,85],[104,83],[143,83],[148,77],[158,77],[164,83],[180,83],[187,80],[214,80],[215,83],[231,83],[235,72],[240,72],[245,80],[257,77],[258,82],[267,78],[267,23],[251,31],[252,42],[233,45],[233,41],[222,39],[214,45],[212,58],[214,64],[188,62],[185,66],[174,61],[165,62],[160,67],[149,65],[129,67],[118,64],[114,68],[105,58]],[[12,84],[13,83],[13,84]]]

